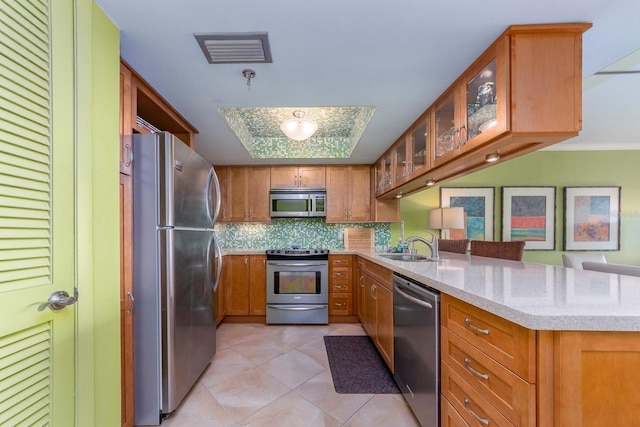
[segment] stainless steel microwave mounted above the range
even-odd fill
[[[271,218],[310,218],[327,216],[326,190],[271,190]]]

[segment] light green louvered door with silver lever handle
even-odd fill
[[[0,425],[75,424],[72,0],[0,0]]]

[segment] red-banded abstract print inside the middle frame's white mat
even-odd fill
[[[545,196],[511,197],[511,240],[545,241]]]

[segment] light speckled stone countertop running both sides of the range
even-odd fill
[[[362,256],[529,329],[640,331],[640,277],[450,252],[440,252],[436,262],[391,261],[373,250],[330,254]]]

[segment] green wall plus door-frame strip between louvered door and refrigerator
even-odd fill
[[[120,425],[120,35],[75,0],[78,283],[77,426]]]

